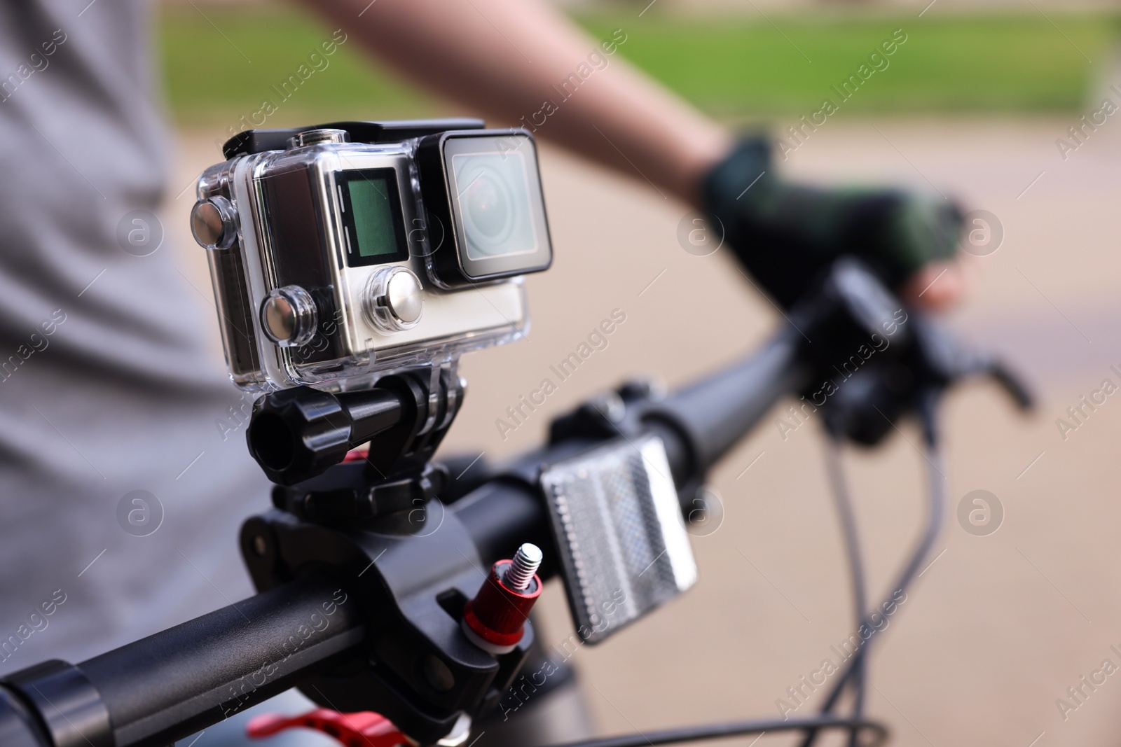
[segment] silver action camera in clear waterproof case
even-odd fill
[[[510,342],[553,259],[537,149],[479,120],[250,130],[198,180],[230,376],[348,390]]]

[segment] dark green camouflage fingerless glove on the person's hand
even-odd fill
[[[900,189],[821,189],[778,177],[770,144],[748,139],[705,178],[712,224],[748,271],[789,308],[839,256],[868,262],[891,288],[957,251],[962,213]]]

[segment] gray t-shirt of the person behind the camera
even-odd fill
[[[268,505],[210,290],[151,252],[147,3],[86,2],[0,4],[0,674],[251,594],[238,530]]]

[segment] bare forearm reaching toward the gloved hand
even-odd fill
[[[700,205],[701,179],[732,147],[723,128],[618,53],[605,54],[601,44],[615,39],[584,35],[544,2],[305,3],[406,77],[492,124],[536,128],[537,136],[691,205]]]

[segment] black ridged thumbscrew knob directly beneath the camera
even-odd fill
[[[401,398],[389,389],[332,394],[299,386],[257,400],[245,437],[268,478],[293,485],[339,464],[401,413]]]

